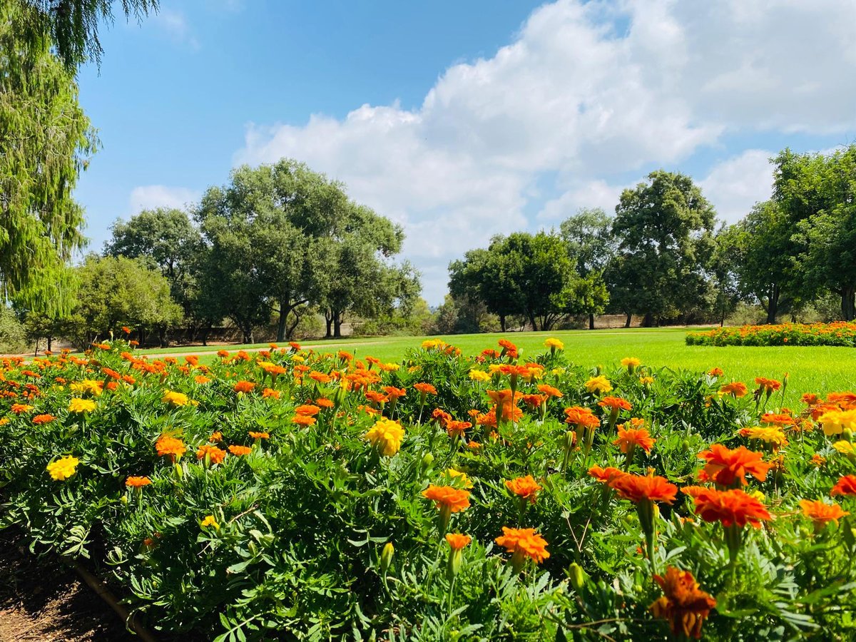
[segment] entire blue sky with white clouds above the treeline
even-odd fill
[[[613,211],[651,169],[734,221],[778,150],[853,141],[856,7],[710,4],[162,0],[80,73],[86,234],[288,156],[403,224],[437,304],[468,248]]]

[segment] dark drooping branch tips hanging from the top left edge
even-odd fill
[[[26,10],[19,33],[24,51],[39,51],[51,40],[56,55],[69,73],[87,59],[101,61],[104,50],[98,40],[99,21],[113,21],[116,0],[12,0]],[[140,21],[158,10],[158,0],[121,0],[122,13]],[[4,50],[7,51],[7,50]]]

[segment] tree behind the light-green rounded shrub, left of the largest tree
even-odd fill
[[[158,208],[144,210],[128,223],[117,220],[110,228],[112,237],[104,243],[104,254],[146,259],[161,270],[169,281],[169,290],[187,321],[192,322],[192,336],[205,319],[196,314],[194,301],[198,288],[193,265],[201,251],[202,239],[187,212]]]

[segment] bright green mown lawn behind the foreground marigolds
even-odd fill
[[[521,348],[521,358],[544,350],[544,339],[555,336],[565,343],[565,350],[574,363],[581,366],[609,366],[623,357],[638,357],[652,368],[707,371],[722,368],[725,379],[746,382],[752,387],[755,377],[781,379],[789,373],[786,403],[796,407],[804,392],[826,393],[852,389],[856,381],[856,350],[827,347],[707,347],[687,346],[687,330],[658,328],[629,330],[571,330],[562,332],[519,332],[484,335],[453,335],[442,338],[464,354],[477,354],[484,348],[496,348],[502,336]],[[358,356],[372,355],[385,361],[400,360],[407,348],[418,348],[425,337],[394,336],[340,341],[305,342],[306,348],[316,350],[344,349]],[[151,354],[199,354],[203,362],[214,359],[219,349],[235,351],[241,348],[267,348],[266,343],[254,346],[209,346],[207,348],[152,349]],[[207,353],[207,354],[206,354]]]

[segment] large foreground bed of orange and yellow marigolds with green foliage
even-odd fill
[[[0,524],[205,639],[853,639],[856,395],[547,347],[5,360]]]

